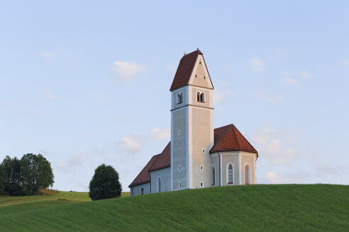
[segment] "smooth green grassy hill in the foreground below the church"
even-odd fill
[[[249,185],[0,207],[0,231],[349,231],[349,186]]]

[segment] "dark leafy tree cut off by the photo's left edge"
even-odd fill
[[[21,196],[23,189],[21,185],[21,161],[15,157],[6,156],[1,163],[4,172],[4,190],[9,195]]]

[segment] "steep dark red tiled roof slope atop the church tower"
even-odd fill
[[[174,75],[170,91],[173,91],[174,89],[182,86],[186,86],[189,83],[190,76],[192,76],[195,62],[199,54],[202,54],[202,52],[200,52],[200,50],[198,49],[182,57],[179,62],[176,74]]]

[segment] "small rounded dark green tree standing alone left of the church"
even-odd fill
[[[121,190],[118,172],[112,166],[106,166],[103,163],[94,170],[94,176],[89,182],[89,197],[93,201],[120,197]]]

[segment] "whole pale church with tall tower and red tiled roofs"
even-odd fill
[[[235,125],[214,129],[214,85],[199,49],[184,54],[170,92],[171,141],[128,186],[131,196],[255,184],[257,151]]]

